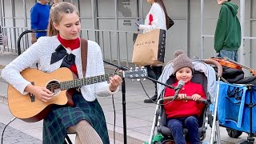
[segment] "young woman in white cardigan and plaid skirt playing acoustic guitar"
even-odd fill
[[[68,2],[54,4],[50,10],[48,37],[38,38],[28,50],[2,70],[2,78],[21,94],[34,94],[35,98],[49,102],[54,94],[45,87],[33,86],[20,72],[38,62],[38,69],[47,73],[66,66],[78,76],[93,77],[105,74],[102,52],[96,42],[87,41],[86,75],[82,73],[79,14]],[[63,58],[59,58],[59,55]],[[76,143],[110,143],[106,121],[96,96],[108,96],[118,90],[122,78],[118,75],[107,82],[82,86],[74,92],[74,106],[51,107],[43,122],[43,143],[63,143],[66,132],[76,132]]]

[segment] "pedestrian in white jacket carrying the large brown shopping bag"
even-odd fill
[[[169,26],[168,15],[166,13],[166,6],[162,0],[147,0],[151,4],[149,13],[146,15],[144,25],[138,24],[138,29],[143,31],[143,34],[155,29],[167,30]],[[162,74],[162,65],[145,66],[148,70],[150,78],[158,80]],[[150,99],[145,99],[145,103],[153,103],[158,98],[157,83],[154,82],[154,96]]]

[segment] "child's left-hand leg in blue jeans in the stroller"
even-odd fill
[[[181,121],[179,121],[178,119],[170,119],[167,122],[167,126],[173,134],[175,143],[186,144]]]

